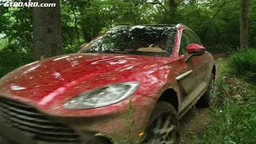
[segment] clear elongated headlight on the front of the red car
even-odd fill
[[[106,85],[86,91],[65,103],[68,109],[98,108],[112,105],[128,98],[137,89],[138,82],[125,82]]]

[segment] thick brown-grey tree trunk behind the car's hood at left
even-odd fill
[[[55,7],[33,7],[33,58],[53,57],[62,54],[60,0],[35,0],[55,3]]]

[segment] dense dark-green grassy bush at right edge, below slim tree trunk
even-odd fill
[[[251,48],[231,54],[228,64],[233,73],[256,82],[256,49]]]

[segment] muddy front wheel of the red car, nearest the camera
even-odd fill
[[[143,144],[178,144],[179,118],[175,108],[166,101],[159,101],[147,124]]]

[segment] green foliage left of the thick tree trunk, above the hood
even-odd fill
[[[24,2],[24,1],[23,1]],[[31,7],[0,9],[0,77],[31,62]]]

